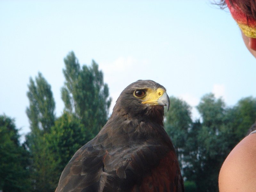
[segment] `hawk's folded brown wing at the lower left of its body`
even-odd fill
[[[91,142],[80,148],[63,170],[56,192],[82,190],[98,182],[103,155],[100,146]]]

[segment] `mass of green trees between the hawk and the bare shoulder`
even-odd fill
[[[176,147],[185,180],[195,182],[194,191],[218,191],[220,167],[254,123],[256,100],[244,98],[227,108],[221,98],[206,94],[197,106],[202,122],[193,123],[189,120],[188,104],[173,97],[170,101],[165,127]]]

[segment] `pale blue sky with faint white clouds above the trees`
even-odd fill
[[[256,60],[228,9],[210,0],[0,1],[0,115],[15,119],[24,137],[29,78],[51,84],[56,116],[64,104],[63,59],[98,63],[112,104],[139,79],[162,84],[196,105],[213,92],[227,106],[256,97]]]

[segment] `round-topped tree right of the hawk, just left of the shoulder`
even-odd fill
[[[199,191],[218,191],[219,170],[228,151],[223,134],[226,129],[225,107],[224,101],[216,99],[212,93],[204,95],[197,106],[203,119],[196,135],[199,161],[194,166],[197,169],[195,180]]]

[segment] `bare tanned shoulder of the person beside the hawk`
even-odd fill
[[[256,133],[245,137],[230,152],[219,175],[220,192],[256,191]]]

